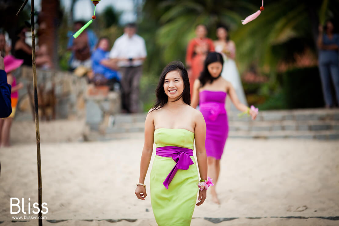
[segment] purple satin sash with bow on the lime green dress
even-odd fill
[[[164,183],[162,183],[165,188],[168,189],[169,183],[174,178],[174,175],[177,173],[178,169],[188,169],[190,165],[193,165],[190,156],[193,156],[193,150],[184,148],[184,147],[175,147],[175,146],[166,146],[166,147],[157,147],[157,156],[172,158],[177,164],[173,167],[171,172],[169,172]]]

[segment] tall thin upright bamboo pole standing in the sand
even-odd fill
[[[39,111],[38,111],[38,88],[37,88],[37,70],[35,64],[35,21],[34,21],[34,0],[31,0],[31,27],[32,27],[32,66],[33,66],[33,88],[34,88],[34,110],[35,110],[35,131],[37,140],[37,163],[38,163],[38,203],[39,203],[39,226],[42,226],[42,182],[41,182],[41,158],[40,158],[40,129],[39,129]]]

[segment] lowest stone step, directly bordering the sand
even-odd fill
[[[143,132],[120,132],[98,135],[91,133],[93,140],[121,140],[121,139],[144,139]],[[231,139],[317,139],[339,140],[338,130],[324,131],[230,131],[228,138]]]

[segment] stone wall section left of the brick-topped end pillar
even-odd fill
[[[22,82],[24,88],[19,90],[16,121],[33,120],[33,109],[28,97],[28,90],[33,94],[33,70],[31,67],[21,67],[15,73],[17,83]],[[56,119],[74,119],[85,117],[84,94],[87,81],[68,71],[37,69],[38,90],[44,87],[45,92],[54,86]],[[39,99],[39,97],[38,97]],[[51,116],[52,108],[47,108]],[[41,109],[39,109],[41,117]],[[44,120],[44,119],[42,119]]]

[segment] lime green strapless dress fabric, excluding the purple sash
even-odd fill
[[[154,142],[157,148],[176,146],[193,150],[193,141],[194,133],[185,129],[160,128],[154,131]],[[194,157],[190,158],[194,164],[187,170],[178,169],[166,189],[163,182],[176,162],[172,158],[155,156],[150,189],[152,208],[159,226],[191,224],[199,190],[199,177]]]

